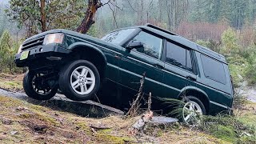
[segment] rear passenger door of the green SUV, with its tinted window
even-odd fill
[[[194,52],[176,42],[166,41],[164,91],[166,97],[177,98],[186,86],[196,86]]]

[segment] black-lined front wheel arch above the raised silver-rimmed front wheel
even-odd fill
[[[97,67],[101,80],[106,70],[106,56],[97,46],[86,42],[75,42],[69,48],[74,54],[74,59],[84,59],[92,62]]]

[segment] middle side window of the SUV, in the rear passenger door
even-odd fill
[[[167,42],[166,45],[166,62],[184,70],[193,71],[190,50],[174,45],[171,42]]]

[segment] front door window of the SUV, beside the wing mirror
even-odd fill
[[[143,47],[136,49],[138,52],[158,59],[161,57],[162,38],[142,31],[132,40],[132,42],[134,41],[143,43]]]

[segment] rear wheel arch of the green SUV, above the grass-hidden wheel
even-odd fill
[[[206,114],[209,114],[210,99],[205,91],[199,89],[198,87],[186,86],[181,90],[181,93],[178,94],[178,99],[182,99],[183,95],[194,96],[195,98],[198,98],[205,106]]]

